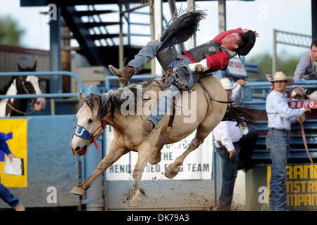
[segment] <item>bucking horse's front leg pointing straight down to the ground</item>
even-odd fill
[[[152,149],[153,146],[150,146],[149,143],[146,143],[140,146],[137,150],[137,163],[135,164],[135,169],[133,169],[133,179],[135,179],[135,188],[133,189],[133,195],[130,200],[129,207],[141,205],[141,198],[139,197],[139,181],[142,178],[142,172],[144,167],[147,165],[147,162],[149,162]]]

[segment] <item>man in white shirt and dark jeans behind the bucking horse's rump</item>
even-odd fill
[[[241,86],[247,84],[243,79],[237,80],[237,83],[231,86],[230,80],[225,77],[220,80],[228,100],[235,101]],[[213,137],[215,139],[216,151],[222,158],[223,167],[223,184],[219,197],[217,210],[224,211],[231,209],[233,188],[235,179],[237,178],[237,165],[239,161],[240,139],[243,131],[237,127],[235,121],[221,121],[215,129],[213,129]]]

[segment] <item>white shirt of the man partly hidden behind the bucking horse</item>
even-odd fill
[[[237,94],[239,93],[241,86],[240,84],[235,84],[237,87],[232,90],[232,101],[235,101]],[[213,137],[216,141],[221,141],[223,146],[230,152],[235,149],[233,143],[240,141],[242,138],[242,130],[237,127],[237,122],[235,121],[221,121],[215,129],[213,129]]]

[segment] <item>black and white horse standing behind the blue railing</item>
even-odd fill
[[[17,63],[18,64],[18,63]],[[35,71],[37,61],[32,68],[22,68],[18,64],[18,72]],[[17,94],[42,94],[39,89],[39,78],[37,76],[16,76],[0,91],[0,94],[15,96]],[[0,99],[0,117],[11,117],[26,115],[27,102],[31,102],[32,110],[42,111],[45,108],[44,98],[4,98]]]

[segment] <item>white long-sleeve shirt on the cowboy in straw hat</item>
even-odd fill
[[[290,131],[291,123],[296,117],[305,112],[304,108],[292,109],[289,107],[286,94],[283,95],[275,89],[266,98],[266,113],[268,114],[268,127],[286,129]]]

